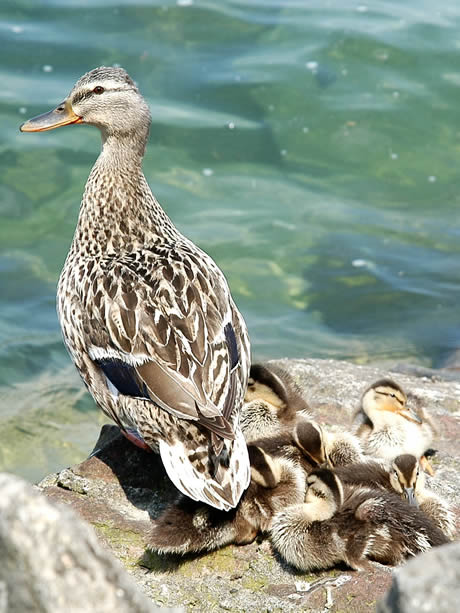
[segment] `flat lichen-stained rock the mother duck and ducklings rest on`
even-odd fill
[[[280,360],[304,392],[318,421],[349,427],[364,389],[391,376],[424,406],[439,425],[431,486],[459,516],[460,383],[452,371],[388,372],[333,360]],[[413,373],[413,374],[412,374]],[[374,564],[370,572],[344,568],[305,575],[282,563],[267,540],[229,546],[202,556],[159,556],[148,552],[150,519],[174,501],[177,490],[159,457],[134,447],[116,426],[104,426],[92,456],[39,484],[55,501],[73,507],[159,605],[187,610],[374,611],[393,569]],[[0,591],[1,598],[1,591]],[[0,600],[1,602],[1,600]]]

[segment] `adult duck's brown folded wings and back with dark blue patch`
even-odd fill
[[[108,267],[88,297],[88,352],[119,393],[233,439],[246,329],[214,262],[185,255],[137,253]]]

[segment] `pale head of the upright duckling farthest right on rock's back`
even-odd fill
[[[380,379],[364,392],[361,406],[374,427],[392,420],[396,415],[415,423],[420,417],[406,406],[404,390],[391,379]]]

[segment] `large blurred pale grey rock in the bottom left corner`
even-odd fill
[[[93,530],[21,479],[0,474],[0,613],[153,613]]]

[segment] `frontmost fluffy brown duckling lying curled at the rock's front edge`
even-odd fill
[[[419,509],[394,494],[344,485],[328,469],[311,473],[307,486],[305,502],[277,513],[270,529],[274,549],[303,571],[340,562],[363,570],[368,559],[396,565],[448,542]]]

